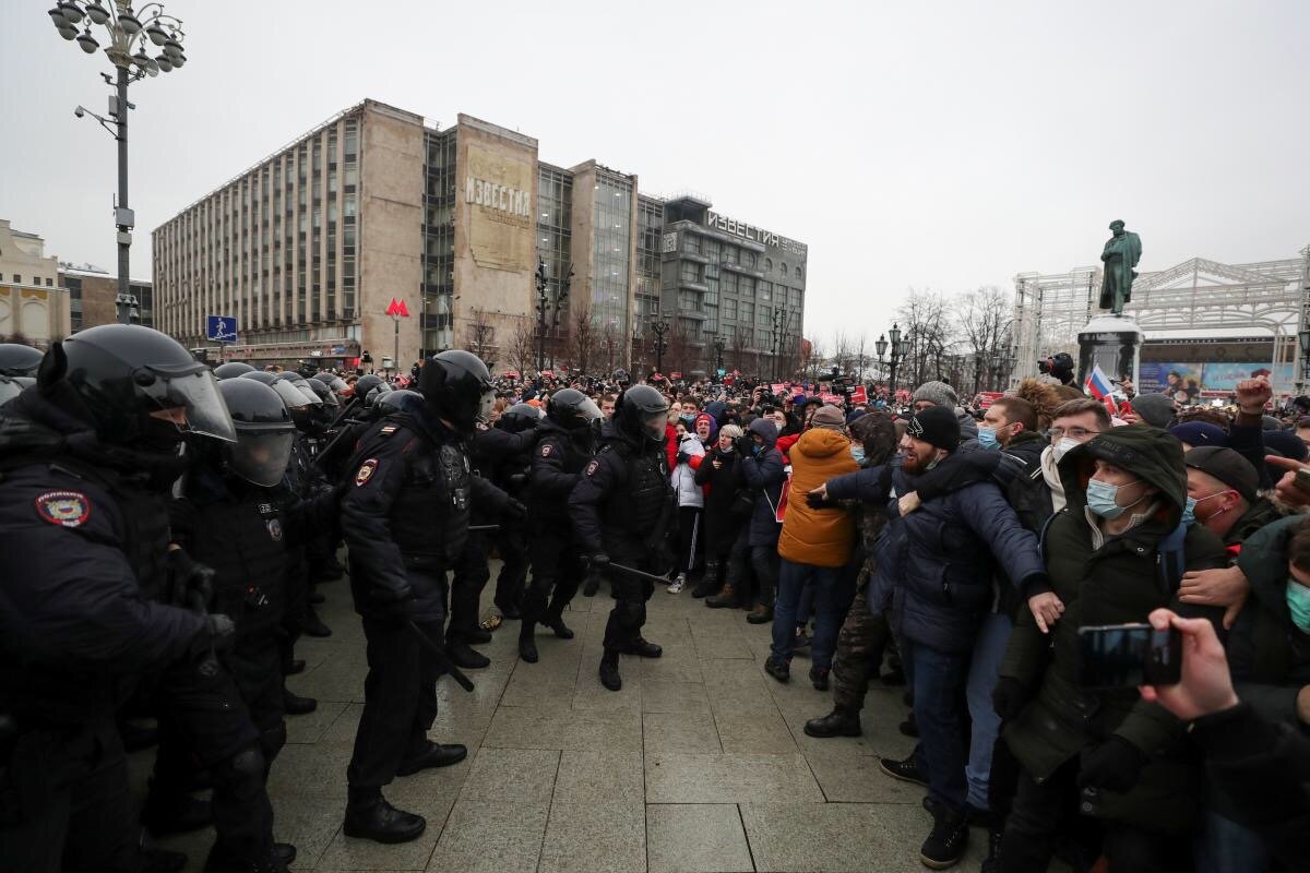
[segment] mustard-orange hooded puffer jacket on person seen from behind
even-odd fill
[[[837,431],[816,427],[791,448],[791,491],[778,535],[778,554],[795,564],[844,567],[855,542],[855,521],[844,507],[811,509],[806,493],[834,476],[859,469],[850,455],[850,440]]]

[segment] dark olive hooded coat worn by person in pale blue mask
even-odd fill
[[[1099,544],[1099,527],[1086,509],[1098,459],[1159,490],[1148,518]],[[1047,526],[1043,556],[1065,611],[1048,636],[1031,610],[1019,610],[1000,675],[1018,679],[1034,699],[1006,725],[1005,739],[1028,775],[1044,780],[1085,749],[1117,736],[1150,760],[1129,791],[1085,793],[1083,810],[1157,830],[1186,828],[1195,818],[1199,770],[1186,754],[1183,724],[1144,702],[1136,688],[1085,691],[1078,685],[1079,627],[1145,622],[1161,606],[1184,615],[1216,613],[1179,603],[1158,565],[1159,543],[1178,527],[1187,500],[1182,446],[1149,425],[1114,428],[1069,449],[1060,475],[1066,504]],[[1201,525],[1187,529],[1183,551],[1186,569],[1226,563],[1222,544]],[[1026,594],[1040,590],[1028,585]]]

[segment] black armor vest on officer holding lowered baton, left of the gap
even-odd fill
[[[469,458],[462,444],[453,438],[438,444],[405,418],[389,419],[415,435],[415,450],[405,455],[405,482],[392,501],[392,539],[407,565],[453,567],[469,537]]]

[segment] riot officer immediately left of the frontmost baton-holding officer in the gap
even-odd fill
[[[569,493],[596,453],[600,418],[600,407],[590,397],[566,387],[550,397],[546,418],[538,425],[541,440],[532,455],[528,484],[532,584],[523,598],[519,628],[519,657],[528,664],[537,662],[533,633],[538,622],[561,639],[574,636],[563,610],[578,593],[584,569],[570,535]]]

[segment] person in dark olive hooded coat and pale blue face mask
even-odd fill
[[[1136,688],[1079,687],[1078,628],[1145,622],[1165,605],[1197,614],[1178,605],[1179,576],[1224,565],[1225,551],[1192,525],[1184,567],[1169,567],[1161,552],[1187,500],[1182,445],[1161,429],[1103,432],[1070,449],[1060,475],[1068,504],[1043,541],[1052,590],[1026,592],[1028,610],[1014,627],[993,696],[1007,722],[1005,741],[1023,766],[1000,869],[1045,869],[1072,783],[1079,811],[1106,823],[1112,870],[1171,869],[1170,859],[1187,847],[1170,836],[1193,823],[1199,794],[1184,726]]]

